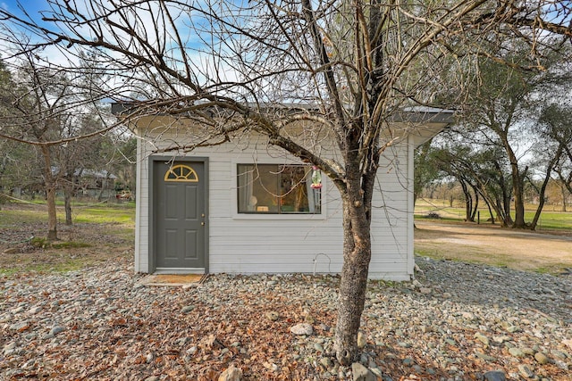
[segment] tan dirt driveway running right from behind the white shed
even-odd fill
[[[555,274],[572,269],[572,236],[491,225],[416,220],[415,252],[433,258]]]

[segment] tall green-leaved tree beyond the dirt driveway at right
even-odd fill
[[[563,152],[558,135],[543,133],[539,128],[539,115],[549,104],[569,102],[572,64],[569,53],[564,52],[569,45],[562,46],[558,39],[554,45],[548,39],[546,43],[536,47],[543,50],[542,56],[534,57],[529,46],[507,39],[507,47],[499,52],[502,62],[479,60],[480,75],[467,92],[462,111],[462,135],[467,145],[496,146],[504,153],[507,165],[502,170],[509,174],[514,219],[507,212],[502,221],[511,228],[536,228],[545,187]],[[534,184],[529,181],[533,177],[541,178],[544,186],[537,189],[541,201],[534,218],[526,221],[526,182]]]

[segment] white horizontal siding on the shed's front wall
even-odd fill
[[[168,134],[154,138],[167,146]],[[180,139],[181,137],[179,137]],[[139,139],[135,270],[149,272],[148,156]],[[256,152],[250,147],[262,147]],[[324,150],[325,151],[325,150]],[[323,152],[324,152],[323,151]],[[164,155],[165,153],[161,153]],[[334,153],[332,153],[333,156]],[[296,158],[265,142],[248,146],[226,143],[198,148],[189,156],[208,157],[208,269],[211,273],[319,273],[341,271],[342,211],[338,190],[322,177],[322,214],[257,215],[237,212],[237,163],[294,163]],[[375,186],[370,277],[405,280],[413,248],[408,243],[408,145],[388,148]],[[411,258],[408,258],[411,257]]]

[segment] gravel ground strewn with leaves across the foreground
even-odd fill
[[[337,277],[147,287],[126,260],[0,277],[0,378],[572,380],[571,277],[417,264],[413,283],[370,283],[352,367],[332,358]]]

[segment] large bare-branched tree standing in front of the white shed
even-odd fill
[[[404,107],[433,105],[442,70],[464,83],[476,73],[475,55],[497,59],[490,44],[480,47],[491,36],[520,37],[531,54],[553,35],[569,43],[570,12],[568,1],[544,0],[47,0],[41,20],[0,17],[42,37],[40,53],[88,50],[114,74],[107,86],[137,106],[131,121],[164,113],[199,122],[202,136],[182,151],[257,133],[319,167],[343,205],[335,343],[349,364],[366,296],[375,176],[392,141],[382,138],[386,121]],[[315,126],[305,137],[335,137],[337,158],[286,133],[297,120]]]

